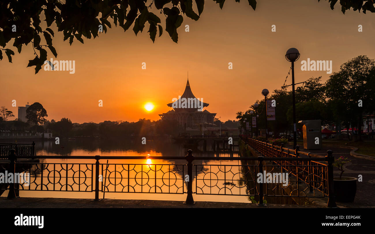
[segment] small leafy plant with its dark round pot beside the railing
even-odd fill
[[[350,159],[340,156],[335,159],[333,166],[339,168],[341,171],[340,176],[333,177],[333,189],[335,190],[336,201],[338,202],[352,202],[356,197],[357,192],[357,178],[343,177],[343,166],[350,162]]]

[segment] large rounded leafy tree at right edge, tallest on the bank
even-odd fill
[[[360,133],[362,114],[374,111],[375,60],[360,55],[342,64],[327,80],[325,92],[335,120],[347,128],[357,126]]]

